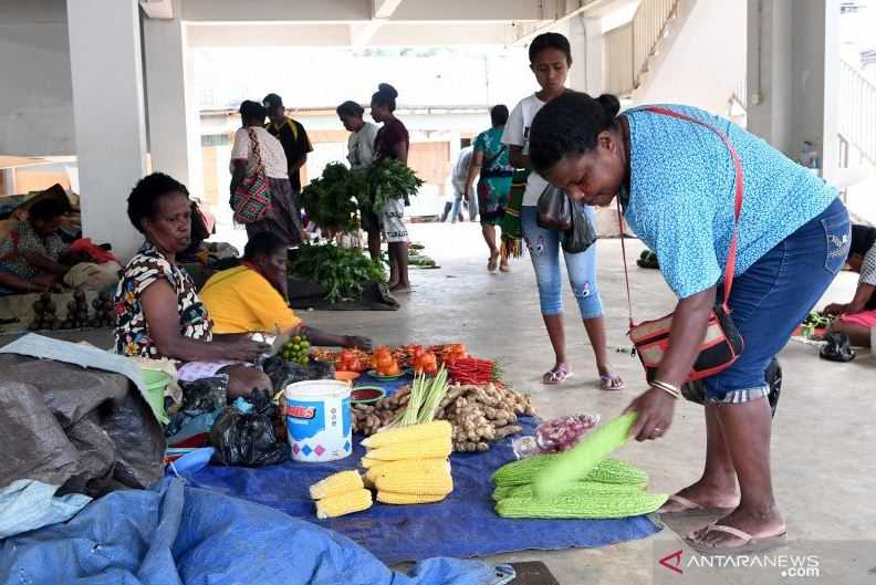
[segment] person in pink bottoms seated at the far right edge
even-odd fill
[[[848,335],[852,345],[869,347],[870,330],[876,327],[876,228],[852,226],[848,268],[861,274],[851,303],[834,303],[825,307],[828,315],[838,315],[831,331]]]

